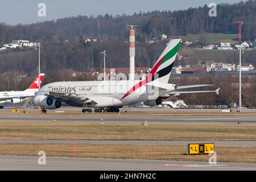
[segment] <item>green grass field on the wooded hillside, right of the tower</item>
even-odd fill
[[[234,38],[238,38],[238,34],[205,34],[208,43],[216,42],[232,42]],[[199,41],[201,38],[200,34],[186,36],[184,40],[188,41]]]

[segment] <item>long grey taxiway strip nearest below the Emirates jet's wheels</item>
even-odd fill
[[[256,123],[253,116],[166,116],[166,115],[90,115],[84,116],[67,115],[63,117],[54,116],[8,116],[0,117],[1,121],[76,121],[76,122],[174,122],[174,123]]]

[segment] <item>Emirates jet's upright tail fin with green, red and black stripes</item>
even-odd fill
[[[150,71],[152,81],[159,79],[159,82],[168,83],[177,51],[179,50],[180,42],[181,39],[172,39],[167,44],[167,47],[164,49],[158,61],[156,61],[154,67]]]

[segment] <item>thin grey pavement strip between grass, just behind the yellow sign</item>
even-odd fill
[[[0,143],[19,144],[138,144],[138,145],[176,145],[185,146],[188,143],[214,143],[215,146],[236,146],[236,147],[256,147],[256,141],[214,141],[214,140],[0,140]]]

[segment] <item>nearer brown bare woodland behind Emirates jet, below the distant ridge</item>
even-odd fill
[[[136,44],[135,67],[150,67],[166,47],[166,42],[152,45]],[[76,44],[42,44],[40,53],[43,72],[55,72],[57,69],[73,69],[78,72],[99,71],[104,67],[104,57],[100,52],[106,50],[106,67],[129,67],[129,43],[121,40],[92,42],[82,46]],[[12,51],[0,54],[0,73],[19,72],[30,75],[38,72],[38,51],[34,49]]]

